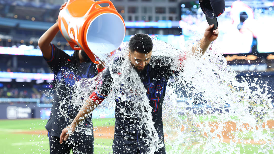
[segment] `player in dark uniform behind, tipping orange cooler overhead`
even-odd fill
[[[66,5],[63,4],[60,10]],[[39,39],[38,45],[43,53],[44,59],[54,73],[54,100],[50,118],[45,126],[48,130],[51,154],[69,154],[70,150],[75,153],[93,153],[93,126],[91,115],[85,117],[84,125],[79,126],[81,131],[75,132],[70,140],[74,144],[59,143],[59,136],[62,129],[69,123],[68,119],[62,115],[60,111],[60,103],[66,102],[62,107],[62,111],[70,118],[74,118],[79,109],[73,108],[71,97],[73,95],[73,85],[82,78],[93,78],[98,72],[104,69],[102,64],[93,63],[83,50],[75,50],[72,56],[69,56],[64,51],[50,43],[58,33],[58,24],[55,23],[50,27]]]

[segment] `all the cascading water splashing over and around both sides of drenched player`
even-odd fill
[[[167,153],[249,153],[250,150],[273,153],[273,131],[266,125],[274,118],[270,87],[258,86],[257,80],[251,84],[257,90],[250,90],[248,77],[242,77],[241,82],[236,80],[236,73],[226,59],[217,54],[221,48],[213,44],[203,56],[193,54],[192,45],[197,42],[191,42],[185,52],[153,39],[150,65],[171,65],[178,72],[169,79],[162,109]],[[126,44],[115,55],[100,57],[109,67],[113,84],[105,103],[98,108],[114,108],[118,98],[130,100],[125,103],[132,106],[130,112],[120,109],[120,114],[138,117],[138,127],[143,128],[143,140],[149,147],[147,153],[153,153],[158,135],[153,126],[152,107],[138,73],[129,62],[128,52]],[[115,63],[117,57],[124,60]],[[182,57],[185,60],[180,61]],[[70,105],[80,107],[85,100],[81,98],[88,98],[98,88],[102,74],[76,83]]]

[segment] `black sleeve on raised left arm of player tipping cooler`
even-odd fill
[[[54,69],[58,68],[66,61],[70,61],[70,56],[66,54],[63,50],[57,48],[55,45],[51,44],[52,46],[52,56],[51,59],[44,59],[47,61],[48,66],[50,69],[54,71]]]

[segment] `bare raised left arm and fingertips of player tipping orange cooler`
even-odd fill
[[[59,10],[62,10],[62,8],[67,4],[65,2]],[[43,53],[43,56],[45,59],[51,59],[52,58],[52,46],[50,45],[50,42],[52,42],[53,38],[56,36],[56,34],[59,31],[59,27],[57,22],[52,25],[45,33],[39,38],[38,40],[38,46],[40,50]]]

